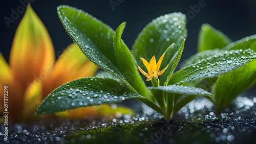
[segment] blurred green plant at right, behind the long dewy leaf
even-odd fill
[[[236,50],[235,52],[237,52],[237,50],[247,50],[248,52],[253,50],[256,52],[256,35],[248,36],[242,38],[241,40],[232,42],[221,31],[218,31],[205,23],[202,25],[199,32],[199,53],[191,56],[185,62],[183,62],[183,67],[191,63],[195,63],[198,59],[204,58],[205,55],[207,55],[207,57],[214,56],[218,53],[230,50]],[[254,53],[251,53],[251,57],[253,55]],[[230,56],[232,56],[231,53]],[[243,59],[243,57],[241,59]],[[215,95],[214,104],[217,106],[218,110],[222,110],[228,106],[238,94],[256,83],[256,60],[247,63],[231,73],[222,75],[218,78],[210,79],[208,81],[201,81],[199,83],[196,85],[208,85],[208,90],[211,90],[211,92]],[[202,88],[207,89],[206,87]]]

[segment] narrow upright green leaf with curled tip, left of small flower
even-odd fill
[[[137,67],[134,63],[134,58],[126,44],[121,39],[125,24],[126,22],[121,23],[114,36],[115,53],[121,68],[120,71],[126,81],[128,81],[133,88],[138,91],[138,93],[144,97],[148,97],[146,85],[138,73]]]

